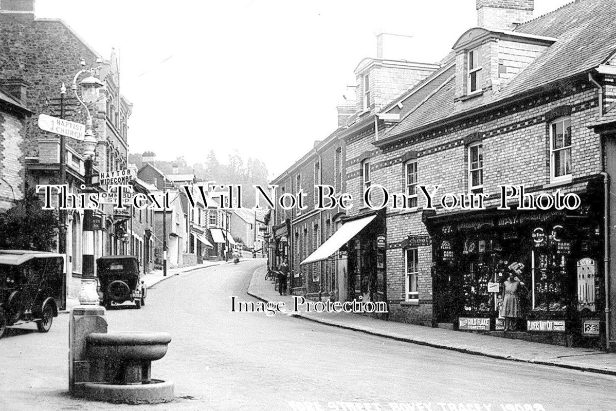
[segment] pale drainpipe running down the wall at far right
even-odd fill
[[[593,73],[588,73],[588,80],[599,90],[599,119],[603,117],[603,87],[597,82]],[[610,270],[610,244],[609,244],[609,174],[606,172],[606,161],[604,158],[604,135],[599,135],[599,155],[601,157],[601,175],[603,176],[603,276],[605,289],[605,315],[606,315],[606,350],[610,351],[610,292],[609,292],[609,270]]]

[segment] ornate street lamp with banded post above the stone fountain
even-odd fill
[[[97,63],[101,60],[97,59]],[[81,65],[85,66],[86,62],[81,60]],[[94,103],[99,98],[99,90],[105,85],[92,75],[92,69],[79,70],[73,78],[72,89],[75,98],[86,110],[86,132],[82,142],[83,157],[85,166],[85,184],[81,186],[84,193],[92,192],[92,164],[96,156],[97,140],[94,137],[92,129],[92,114],[86,103]],[[77,92],[77,79],[81,74],[90,74],[83,80],[79,81],[81,87],[81,97]],[[81,272],[81,291],[79,292],[79,303],[81,304],[97,304],[99,302],[99,294],[96,290],[96,280],[94,279],[94,210],[84,209],[83,212],[83,260]]]

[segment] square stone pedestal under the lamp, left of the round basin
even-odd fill
[[[75,383],[89,381],[86,337],[93,332],[107,332],[105,308],[100,305],[78,305],[71,309],[68,325],[68,390],[71,394],[75,394]]]

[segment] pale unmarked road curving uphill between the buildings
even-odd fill
[[[419,402],[439,411],[440,402],[455,404],[444,405],[447,411],[537,403],[547,411],[616,410],[614,377],[469,356],[286,315],[230,313],[231,295],[255,301],[245,290],[262,264],[242,261],[172,277],[149,290],[143,309],[108,311],[110,331],[173,337],[152,376],[175,381],[177,401],[126,409],[302,410],[295,402],[317,402],[316,410],[335,409],[328,402],[370,402],[395,411],[389,403],[421,410]],[[67,397],[67,323],[64,314],[47,335],[19,332],[0,340],[1,410],[124,408]]]

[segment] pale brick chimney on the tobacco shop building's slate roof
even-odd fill
[[[534,0],[477,0],[477,26],[511,31],[533,18]]]

